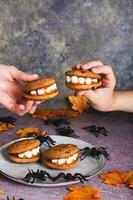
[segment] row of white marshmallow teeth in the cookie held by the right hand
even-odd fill
[[[84,77],[78,77],[78,76],[67,76],[66,77],[67,83],[73,83],[73,84],[87,84],[90,85],[91,83],[97,83],[98,79],[92,79],[92,78],[84,78]]]

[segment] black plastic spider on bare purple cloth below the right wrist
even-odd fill
[[[104,127],[91,125],[88,127],[83,127],[82,129],[86,130],[87,132],[92,132],[96,137],[98,137],[99,135],[108,136],[108,131]]]

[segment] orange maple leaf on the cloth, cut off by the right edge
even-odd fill
[[[119,186],[125,184],[133,189],[133,171],[111,171],[106,174],[101,174],[100,178],[103,179],[104,183]]]

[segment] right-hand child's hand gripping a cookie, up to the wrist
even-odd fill
[[[94,73],[103,74],[102,86],[95,90],[85,90],[77,92],[86,96],[93,108],[99,111],[110,111],[113,105],[113,91],[116,79],[110,66],[103,65],[100,61],[91,61],[76,66],[78,69],[89,69]]]

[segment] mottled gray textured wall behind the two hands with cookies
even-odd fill
[[[112,65],[117,88],[133,88],[133,0],[0,0],[0,62],[57,78],[86,60]]]

